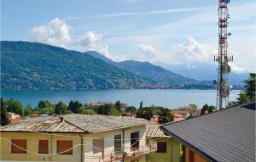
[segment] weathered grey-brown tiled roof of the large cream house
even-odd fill
[[[26,132],[99,132],[131,126],[143,126],[148,120],[109,115],[63,115],[21,120],[18,123],[0,126],[0,131]]]

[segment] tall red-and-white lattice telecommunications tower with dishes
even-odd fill
[[[217,81],[217,103],[216,108],[225,109],[229,103],[231,87],[229,85],[228,74],[230,73],[229,62],[233,61],[233,56],[228,55],[228,20],[230,19],[228,3],[230,0],[218,0],[218,56],[214,56],[214,61],[218,62]]]

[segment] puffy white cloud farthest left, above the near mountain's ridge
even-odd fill
[[[29,38],[32,42],[67,47],[68,43],[72,41],[69,29],[64,20],[55,18],[46,25],[33,27],[29,32]]]

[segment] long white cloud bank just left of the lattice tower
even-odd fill
[[[144,59],[152,63],[187,64],[191,68],[207,61],[213,63],[213,55],[217,54],[215,48],[197,42],[192,36],[188,36],[185,43],[172,46],[169,53],[160,52],[146,44],[139,44],[137,48],[143,53],[137,58],[139,60]]]

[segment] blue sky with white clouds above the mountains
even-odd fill
[[[256,3],[229,3],[236,73],[256,71]],[[1,0],[1,40],[94,50],[109,59],[216,65],[218,0]]]

